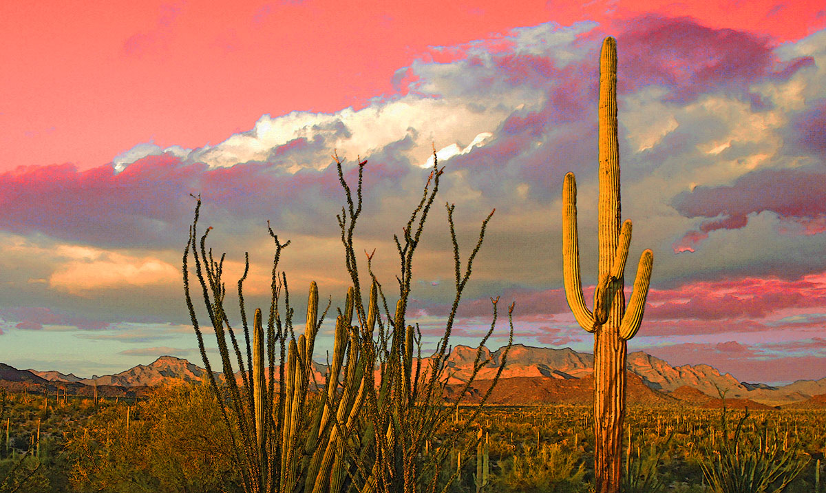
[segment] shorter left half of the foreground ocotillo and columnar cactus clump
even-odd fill
[[[287,277],[278,273],[278,260],[282,249],[289,242],[280,243],[278,237],[270,230],[276,244],[276,254],[273,258],[269,321],[265,337],[261,310],[255,310],[252,344],[249,340],[243,293],[244,280],[249,271],[249,258],[244,276],[238,282],[241,323],[246,344],[244,355],[224,308],[225,287],[221,281],[223,258],[216,261],[211,251],[207,251],[206,248],[209,230],[200,239],[200,249],[196,246],[200,206],[199,200],[189,243],[184,253],[184,292],[203,362],[207,367],[210,386],[221,403],[223,420],[228,429],[232,430],[230,442],[235,461],[240,465],[244,491],[342,491],[344,485],[341,484],[341,476],[339,475],[336,480],[333,475],[331,479],[330,470],[335,472],[335,465],[344,461],[343,443],[353,432],[356,416],[363,401],[364,362],[363,358],[359,357],[357,346],[353,344],[353,333],[356,328],[351,329],[352,320],[349,318],[353,312],[352,294],[350,293],[351,296],[346,302],[345,315],[339,315],[336,320],[333,367],[327,378],[329,391],[325,392],[327,398],[324,404],[317,405],[312,402],[310,392],[311,365],[316,334],[324,315],[321,315],[319,320],[316,283],[311,283],[310,287],[305,332],[296,338],[292,327],[293,309],[287,296]],[[194,271],[216,334],[225,388],[218,385],[212,372],[203,344],[202,331],[192,305],[188,268],[190,256],[194,260]],[[283,306],[282,288],[285,292]],[[375,311],[375,306],[371,306],[370,310]],[[372,327],[365,326],[363,329],[365,334],[372,337]],[[274,374],[276,344],[279,344],[281,353],[278,389],[275,388]],[[241,386],[235,379],[230,351],[235,354],[237,360]],[[345,353],[348,358],[343,382],[344,393],[339,395],[336,389]],[[268,376],[265,376],[264,372],[265,360],[269,367]]]

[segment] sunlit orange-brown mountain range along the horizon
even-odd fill
[[[501,364],[504,348],[491,352],[481,348],[482,361],[489,362],[477,373],[467,401],[478,400],[491,385]],[[472,374],[477,348],[457,346],[446,361],[449,375],[447,393],[460,390]],[[491,393],[496,405],[529,405],[591,402],[594,357],[570,348],[534,348],[514,344],[507,354],[501,380]],[[422,367],[428,367],[428,358]],[[105,396],[142,394],[164,383],[201,382],[206,370],[186,359],[162,356],[149,365],[138,365],[124,372],[93,378],[80,378],[50,371],[17,370],[0,363],[0,386],[35,389],[61,386],[78,395],[89,395],[93,386]],[[278,373],[278,369],[276,368]],[[313,364],[316,382],[324,382],[326,367]],[[729,373],[721,374],[705,364],[672,367],[662,359],[643,352],[628,355],[629,404],[667,405],[685,403],[700,406],[721,405],[719,392],[724,392],[729,406],[750,409],[790,406],[826,408],[826,377],[816,381],[798,381],[786,386],[740,382]],[[240,378],[236,376],[236,378]],[[719,389],[719,391],[718,391]]]

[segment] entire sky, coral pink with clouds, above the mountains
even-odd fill
[[[334,152],[350,180],[368,160],[356,248],[375,249],[389,294],[392,235],[434,149],[409,314],[425,348],[453,296],[451,203],[463,259],[496,209],[452,343],[477,344],[501,296],[516,343],[591,352],[562,289],[562,183],[576,173],[590,300],[598,56],[615,36],[627,290],[654,253],[629,351],[746,382],[826,377],[826,9],[580,3],[0,3],[0,362],[81,377],[202,364],[181,276],[190,193],[230,292],[249,252],[248,306],[268,306],[269,220],[292,242],[296,313],[313,280],[335,310]]]

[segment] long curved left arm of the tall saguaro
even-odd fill
[[[579,239],[577,238],[577,178],[565,175],[563,184],[563,278],[565,297],[577,323],[588,332],[596,329],[594,314],[585,305],[579,273]]]

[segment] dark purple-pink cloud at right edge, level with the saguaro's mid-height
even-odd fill
[[[819,168],[759,169],[730,186],[682,192],[673,206],[682,216],[708,218],[700,231],[689,231],[672,245],[675,252],[694,251],[710,231],[743,228],[749,215],[764,211],[817,234],[824,230],[826,173]]]

